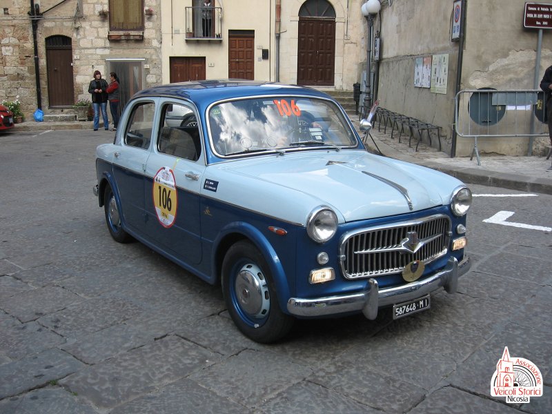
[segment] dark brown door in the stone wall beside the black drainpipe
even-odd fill
[[[51,36],[46,39],[48,106],[66,108],[75,105],[71,38]]]

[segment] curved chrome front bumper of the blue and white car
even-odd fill
[[[378,308],[383,306],[408,302],[432,293],[439,288],[444,288],[447,293],[455,293],[458,286],[458,277],[467,273],[470,266],[469,257],[462,259],[462,262],[458,262],[455,257],[451,257],[442,270],[419,282],[380,289],[377,286],[377,280],[371,277],[368,279],[370,288],[360,293],[319,297],[317,299],[291,297],[288,300],[288,312],[296,316],[317,317],[362,311],[368,319],[375,319]]]

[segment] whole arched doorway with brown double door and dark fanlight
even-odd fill
[[[335,9],[327,0],[307,0],[299,9],[297,84],[333,86]]]

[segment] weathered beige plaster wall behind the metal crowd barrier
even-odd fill
[[[524,3],[521,0],[381,0],[382,8],[374,19],[375,32],[382,44],[377,62],[377,97],[381,105],[440,126],[446,152],[453,152],[454,146],[455,155],[470,155],[473,137],[457,135],[453,142],[456,93],[480,88],[497,92],[532,90],[535,72],[540,81],[544,70],[552,64],[552,30],[543,30],[540,66],[535,68],[538,30],[524,28]],[[530,3],[551,2],[533,0]],[[464,25],[463,43],[453,39],[455,20],[460,17],[455,14],[455,8],[459,4],[464,11],[464,20],[460,22]],[[415,85],[417,62],[429,59],[431,63],[435,56],[447,60],[444,88]],[[546,125],[533,119],[531,101],[520,95],[520,100],[526,102],[519,101],[517,105],[510,102],[504,110],[497,99],[499,95],[489,94],[489,99],[496,100],[489,105],[489,112],[492,115],[495,110],[503,111],[504,116],[492,128],[485,128],[471,119],[469,101],[464,99],[471,94],[462,92],[459,96],[464,100],[459,100],[457,122],[460,133],[491,135],[478,138],[477,146],[482,154],[527,155],[531,146],[533,154],[546,155],[546,146],[550,145],[548,137],[535,137],[534,141],[529,137],[506,137],[530,134],[531,123],[535,133],[546,134]],[[530,144],[530,141],[533,142]]]

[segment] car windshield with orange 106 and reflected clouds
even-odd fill
[[[356,146],[335,103],[308,97],[226,101],[209,110],[210,139],[222,156],[286,149]]]

